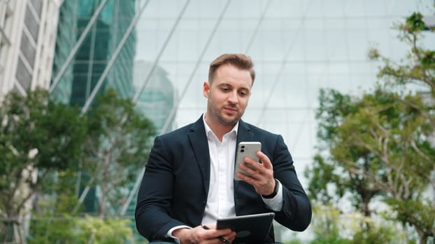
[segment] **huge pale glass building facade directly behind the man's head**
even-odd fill
[[[141,4],[145,4],[142,1]],[[257,77],[243,119],[282,134],[299,175],[316,146],[322,88],[358,95],[377,82],[371,47],[398,61],[408,47],[394,23],[434,1],[240,0],[149,1],[136,31],[136,59],[156,61],[178,91],[175,126],[206,109],[202,84],[223,53],[243,52]],[[183,12],[184,10],[184,12]]]

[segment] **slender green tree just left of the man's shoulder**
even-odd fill
[[[122,206],[122,190],[145,165],[156,130],[131,100],[118,98],[113,89],[97,98],[87,121],[83,167],[90,184],[100,189],[98,213],[106,217],[108,206],[118,210]]]

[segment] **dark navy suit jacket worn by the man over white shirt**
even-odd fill
[[[311,204],[297,179],[292,156],[280,135],[240,121],[238,142],[262,142],[273,176],[283,185],[283,208],[275,220],[294,231],[311,222]],[[236,148],[234,148],[236,151]],[[235,161],[235,160],[234,160]],[[210,184],[210,154],[202,117],[195,123],[155,138],[136,205],[136,227],[148,241],[167,240],[172,227],[201,224]],[[272,212],[244,181],[234,181],[236,215]],[[267,241],[273,241],[273,228]]]

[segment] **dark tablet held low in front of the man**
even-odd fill
[[[272,226],[275,213],[258,213],[242,215],[233,218],[218,219],[217,229],[232,229],[236,231],[236,243],[264,243]]]

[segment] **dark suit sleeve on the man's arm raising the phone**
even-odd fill
[[[311,222],[311,204],[297,178],[292,155],[280,135],[271,158],[273,175],[283,185],[283,208],[276,220],[293,231],[304,231]]]

